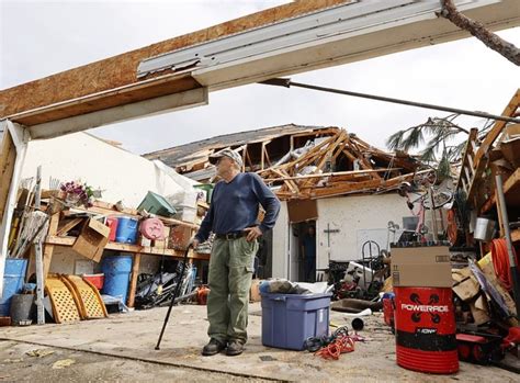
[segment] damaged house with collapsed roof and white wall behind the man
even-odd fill
[[[304,279],[302,241],[308,226],[316,229],[315,277],[321,280],[330,261],[357,260],[363,251],[366,257],[371,251],[376,255],[376,247],[387,249],[399,234],[394,223],[400,226],[411,215],[396,190],[414,180],[420,164],[407,154],[380,150],[339,127],[289,124],[213,137],[145,157],[211,183],[215,167],[208,156],[224,148],[240,153],[242,170],[259,173],[282,201],[280,218],[264,238],[261,277]],[[376,245],[363,249],[368,240]]]

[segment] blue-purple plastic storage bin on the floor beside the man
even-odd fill
[[[261,293],[262,345],[303,350],[308,337],[328,336],[330,296]]]

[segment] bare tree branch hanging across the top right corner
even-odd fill
[[[462,30],[470,32],[493,50],[498,52],[511,63],[520,66],[520,49],[495,33],[486,30],[478,21],[466,18],[457,11],[453,0],[442,0],[441,16],[450,20]]]

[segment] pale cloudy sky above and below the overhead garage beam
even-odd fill
[[[0,89],[204,29],[286,1],[0,0]],[[499,32],[520,46],[520,27]],[[351,91],[500,114],[520,70],[465,38],[292,77]],[[445,113],[250,85],[210,94],[210,104],[90,131],[136,154],[215,135],[295,123],[341,126],[371,144]],[[463,119],[471,127],[477,119]]]

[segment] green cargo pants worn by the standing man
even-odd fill
[[[221,342],[247,341],[249,289],[258,241],[215,239],[210,258],[207,335]]]

